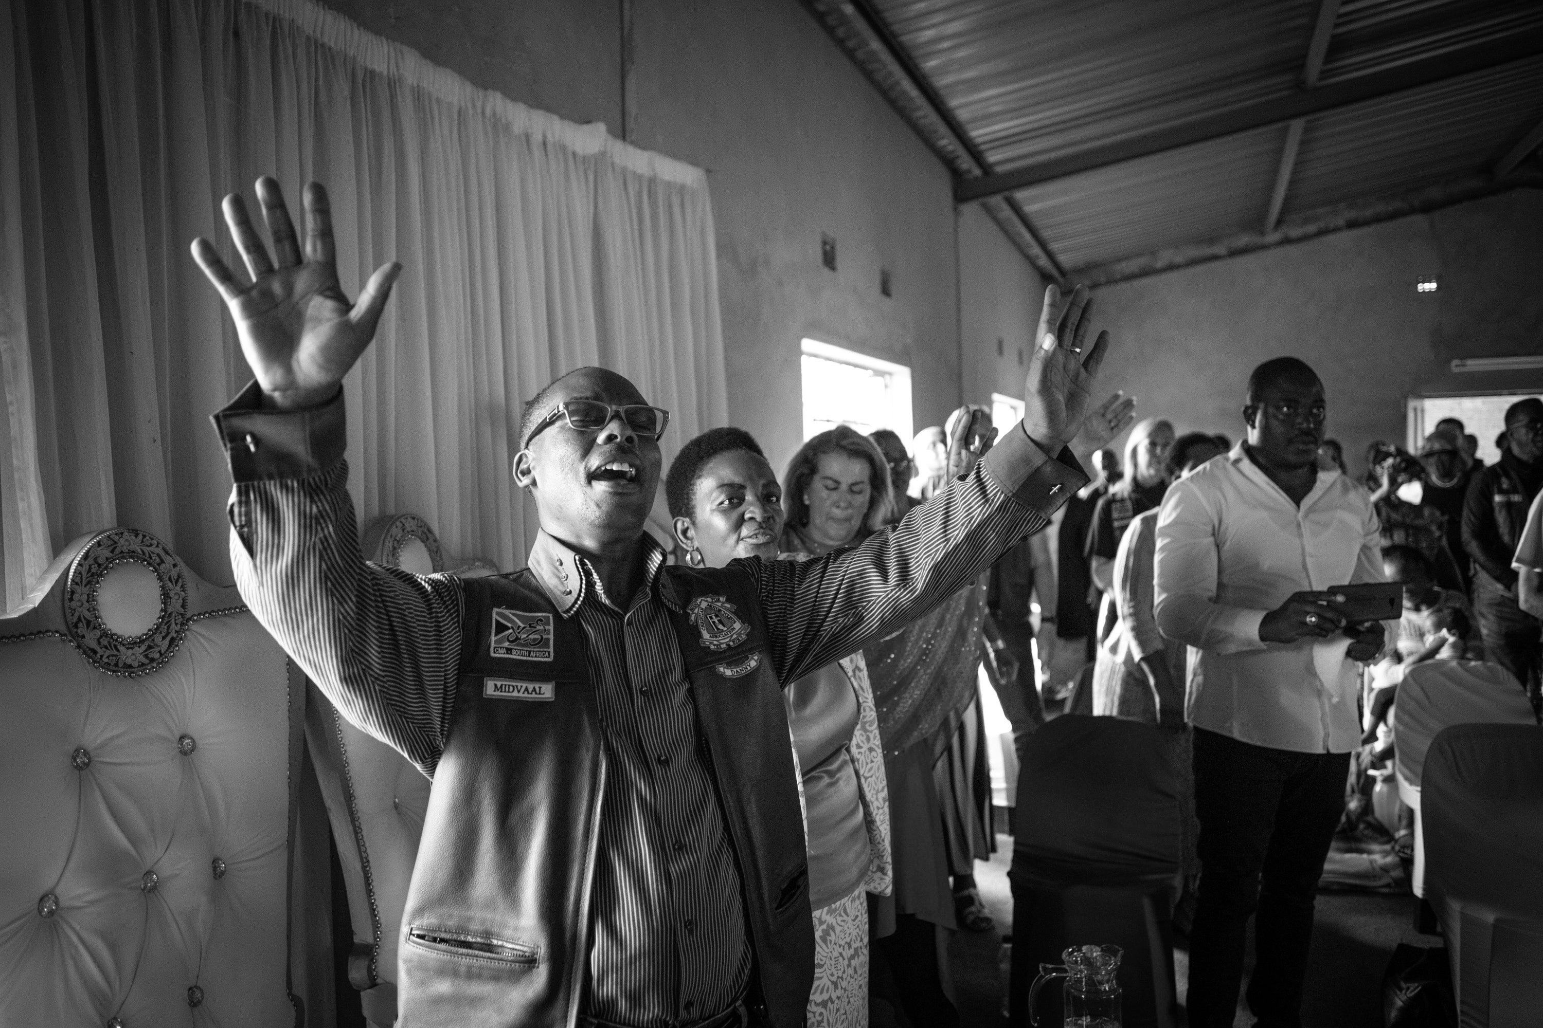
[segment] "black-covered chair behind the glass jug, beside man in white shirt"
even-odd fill
[[[1040,963],[1074,945],[1125,951],[1126,1028],[1174,1023],[1173,899],[1179,777],[1151,724],[1062,715],[1034,732],[1018,771],[1012,871],[1011,1025],[1028,1025]],[[1060,989],[1038,1014],[1058,1023]]]

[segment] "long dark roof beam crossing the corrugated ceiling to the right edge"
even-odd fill
[[[1244,103],[1217,114],[1207,114],[1150,133],[1128,136],[1111,143],[1100,143],[1057,157],[1034,160],[981,179],[964,179],[955,183],[954,199],[960,203],[971,203],[1003,196],[1004,193],[1017,193],[1042,182],[1065,179],[1066,176],[1092,171],[1094,168],[1160,154],[1180,146],[1191,146],[1224,136],[1284,125],[1296,119],[1336,111],[1355,103],[1366,103],[1367,100],[1376,100],[1407,89],[1418,89],[1420,86],[1429,86],[1538,54],[1543,54],[1543,29],[1529,29],[1497,40],[1458,46],[1444,54],[1410,60],[1386,71],[1332,82],[1325,86],[1315,86],[1282,97]]]

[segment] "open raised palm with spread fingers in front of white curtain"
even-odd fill
[[[306,186],[306,253],[301,257],[284,194],[273,179],[258,179],[258,202],[273,236],[278,267],[247,217],[241,196],[225,197],[225,223],[252,274],[242,285],[207,239],[193,240],[193,259],[225,297],[236,322],[241,351],[262,387],[265,405],[315,407],[332,399],[353,362],[375,338],[390,287],[401,274],[397,262],[370,276],[355,304],[338,285],[332,242],[332,208],[316,182]]]

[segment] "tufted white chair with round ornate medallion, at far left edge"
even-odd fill
[[[134,529],[0,618],[0,1025],[302,1023],[304,697],[233,587]]]

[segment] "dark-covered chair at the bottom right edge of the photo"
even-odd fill
[[[1426,752],[1421,809],[1426,899],[1460,1023],[1543,1023],[1543,727],[1443,729]]]

